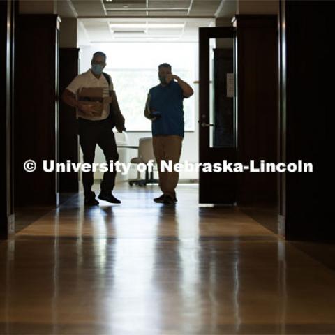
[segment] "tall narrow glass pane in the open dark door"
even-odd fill
[[[234,40],[209,40],[209,146],[234,147]]]

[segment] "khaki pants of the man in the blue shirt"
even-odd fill
[[[178,135],[161,135],[153,137],[154,155],[158,164],[159,186],[165,195],[172,198],[176,196],[174,191],[178,184],[178,172],[161,172],[161,161],[172,161],[172,165],[179,163],[181,144],[183,137]]]

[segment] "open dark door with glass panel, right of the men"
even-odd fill
[[[199,29],[199,202],[234,204],[236,172],[214,172],[234,163],[237,148],[234,28]]]

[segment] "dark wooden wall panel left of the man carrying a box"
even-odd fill
[[[15,37],[15,205],[57,205],[59,161],[59,17],[18,15]],[[25,172],[28,159],[35,172]]]

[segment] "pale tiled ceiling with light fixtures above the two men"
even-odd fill
[[[57,0],[57,3],[61,17],[77,17],[79,46],[138,40],[196,42],[199,27],[210,27],[216,17],[232,18],[236,13],[236,0]]]

